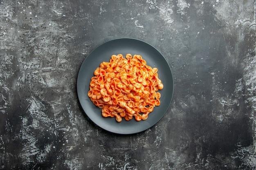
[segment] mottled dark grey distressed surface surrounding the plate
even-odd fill
[[[0,168],[256,167],[254,0],[1,0]],[[155,46],[175,93],[134,135],[95,126],[76,93],[86,56],[114,38]]]

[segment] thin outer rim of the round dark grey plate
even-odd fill
[[[172,81],[171,81],[171,82],[172,82],[172,84],[171,84],[172,89],[171,89],[170,102],[168,103],[168,106],[167,106],[166,109],[164,110],[164,113],[162,114],[162,116],[159,117],[158,120],[155,121],[155,123],[150,124],[149,127],[144,128],[143,130],[138,130],[138,131],[134,131],[134,132],[127,132],[127,133],[126,133],[126,132],[118,132],[118,130],[106,129],[106,128],[103,128],[101,125],[97,124],[97,122],[95,122],[95,121],[90,117],[90,115],[88,115],[88,113],[86,113],[86,111],[85,111],[86,109],[84,108],[84,106],[83,106],[83,104],[82,104],[82,102],[81,102],[81,97],[82,97],[82,96],[79,95],[79,87],[78,87],[78,86],[79,86],[79,83],[78,83],[78,82],[79,82],[79,77],[80,77],[80,75],[82,74],[82,73],[81,73],[81,69],[82,69],[84,63],[86,63],[86,61],[88,60],[88,58],[90,58],[90,55],[92,55],[92,53],[94,53],[94,51],[96,51],[100,46],[103,46],[103,45],[106,44],[106,43],[110,43],[110,42],[112,42],[112,41],[118,41],[118,40],[134,40],[134,41],[138,41],[138,42],[140,42],[140,43],[144,43],[144,44],[150,46],[151,48],[153,48],[157,53],[159,53],[159,55],[164,59],[164,61],[165,61],[166,64],[168,65],[168,69],[170,70],[170,73],[171,73],[171,74],[170,74],[170,75],[171,75],[170,78],[171,78],[171,80],[172,80]],[[120,134],[120,135],[130,135],[130,134],[135,134],[135,133],[143,132],[143,131],[147,130],[148,128],[151,128],[152,126],[154,126],[155,124],[157,124],[157,122],[158,122],[160,119],[162,119],[162,117],[166,114],[168,108],[170,108],[171,101],[172,101],[172,99],[173,99],[173,93],[174,93],[173,73],[172,73],[171,67],[170,67],[170,65],[168,64],[168,62],[167,62],[166,58],[164,57],[164,55],[162,55],[162,53],[161,53],[158,49],[156,49],[153,45],[151,45],[151,44],[149,44],[148,42],[145,42],[145,41],[143,41],[143,40],[136,39],[136,38],[115,38],[115,39],[111,39],[111,40],[108,40],[108,41],[106,41],[106,42],[103,42],[103,43],[101,43],[100,45],[96,46],[96,47],[86,56],[85,60],[82,62],[81,66],[80,66],[80,68],[79,68],[79,72],[78,72],[78,75],[77,75],[77,81],[76,81],[76,91],[77,91],[77,96],[78,96],[78,99],[79,99],[79,104],[80,104],[80,106],[82,107],[83,112],[85,113],[85,115],[88,116],[88,118],[89,118],[95,125],[99,126],[99,127],[102,128],[103,130],[106,130],[106,131],[108,131],[108,132],[112,132],[112,133],[116,133],[116,134]],[[87,93],[86,93],[86,94],[87,94]],[[88,97],[88,98],[89,98],[89,97]],[[90,99],[90,98],[89,98],[89,99]],[[90,102],[91,102],[91,100],[90,100]],[[106,118],[106,119],[107,119],[107,118]],[[112,118],[112,119],[114,119],[114,118]],[[124,121],[124,120],[123,120],[123,121]],[[142,121],[142,120],[141,120],[141,121]],[[144,121],[146,121],[146,120],[144,120]]]

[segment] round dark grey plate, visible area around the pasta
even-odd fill
[[[144,121],[136,121],[135,118],[126,121],[123,118],[117,122],[115,117],[102,117],[101,108],[88,97],[91,78],[101,62],[110,62],[112,55],[122,54],[125,57],[127,53],[141,55],[148,66],[156,67],[158,77],[164,84],[164,88],[158,91],[161,93],[160,106],[156,106]],[[86,57],[77,77],[77,93],[83,110],[95,124],[117,134],[133,134],[150,128],[164,116],[173,97],[173,75],[164,56],[153,46],[137,39],[119,38],[101,44]]]

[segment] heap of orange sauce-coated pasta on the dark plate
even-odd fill
[[[112,55],[110,62],[102,62],[91,78],[88,96],[102,108],[103,117],[115,117],[121,122],[146,120],[155,106],[160,105],[164,88],[157,68],[146,65],[141,55]]]

